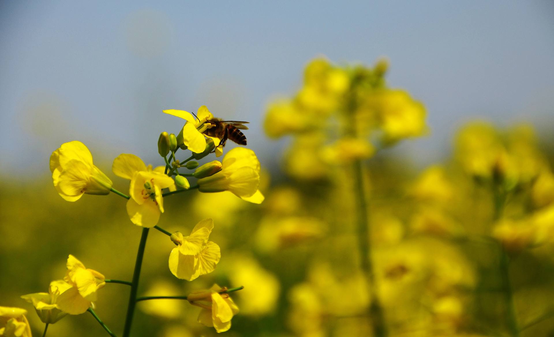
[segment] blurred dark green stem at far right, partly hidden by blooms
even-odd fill
[[[494,221],[498,221],[504,212],[506,203],[506,192],[501,188],[499,183],[493,186],[493,202],[494,202]],[[502,242],[499,242],[500,247],[500,277],[502,278],[502,288],[504,289],[504,303],[506,307],[505,321],[508,325],[510,336],[519,337],[519,326],[517,325],[517,316],[514,305],[514,294],[510,280],[510,257],[506,252],[506,248]]]

